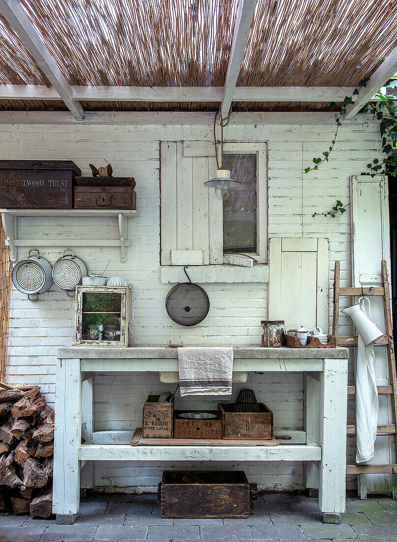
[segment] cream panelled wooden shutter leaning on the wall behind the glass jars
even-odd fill
[[[328,332],[329,243],[317,238],[272,238],[269,242],[269,320],[284,320]]]

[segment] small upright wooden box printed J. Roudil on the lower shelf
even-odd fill
[[[149,395],[143,405],[142,436],[170,438],[173,436],[174,398],[170,403],[157,403],[160,395]]]

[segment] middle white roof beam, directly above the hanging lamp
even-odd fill
[[[223,99],[221,105],[222,117],[227,117],[233,94],[236,88],[237,78],[240,73],[244,50],[246,49],[249,29],[254,17],[256,0],[240,0],[237,11],[236,24],[234,27],[233,42],[231,43],[230,58],[226,79],[223,86]]]

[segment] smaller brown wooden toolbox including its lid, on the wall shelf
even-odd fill
[[[76,177],[75,209],[134,209],[134,177]]]

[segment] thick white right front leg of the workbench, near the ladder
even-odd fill
[[[347,360],[325,359],[321,373],[319,505],[326,523],[340,523],[346,505]]]

